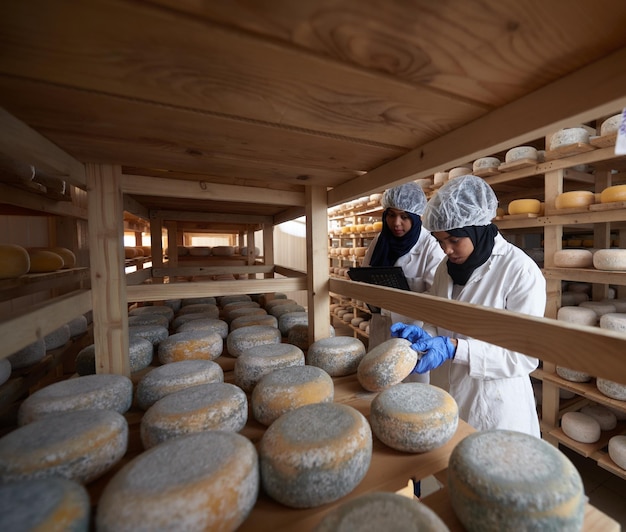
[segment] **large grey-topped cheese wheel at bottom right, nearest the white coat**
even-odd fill
[[[585,493],[570,460],[522,432],[465,437],[448,464],[448,493],[467,530],[581,530]]]

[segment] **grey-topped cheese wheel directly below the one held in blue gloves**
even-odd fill
[[[425,453],[441,447],[456,432],[459,408],[445,390],[419,382],[400,383],[372,401],[372,432],[398,451]]]

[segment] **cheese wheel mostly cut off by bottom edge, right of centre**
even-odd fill
[[[389,529],[423,532],[450,530],[425,504],[416,504],[397,493],[381,491],[366,493],[334,508],[323,517],[314,532]]]

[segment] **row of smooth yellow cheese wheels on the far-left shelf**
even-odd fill
[[[27,273],[55,272],[75,265],[76,256],[64,247],[0,245],[0,279],[14,279]]]

